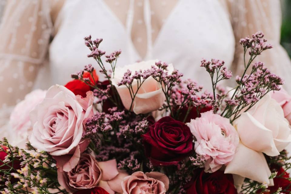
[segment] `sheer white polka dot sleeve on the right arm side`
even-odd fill
[[[266,50],[256,58],[263,61],[273,72],[282,77],[284,87],[291,92],[291,62],[286,51],[280,45],[281,7],[279,0],[228,0],[228,8],[232,27],[236,37],[236,52],[233,70],[236,74],[243,71],[243,47],[239,39],[255,32],[262,31],[265,38],[273,45],[273,49]]]

